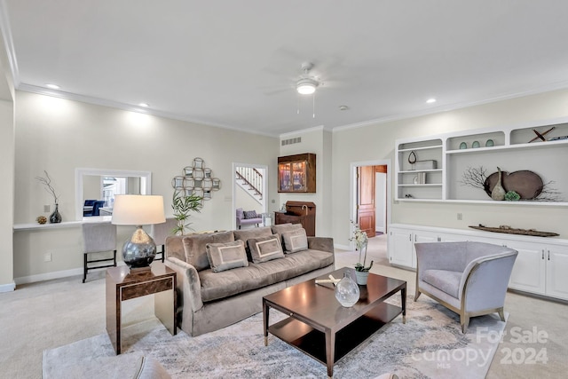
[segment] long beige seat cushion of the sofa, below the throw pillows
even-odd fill
[[[249,264],[224,272],[203,270],[201,300],[203,303],[234,296],[257,288],[263,288],[283,280],[295,278],[307,272],[333,265],[334,255],[326,251],[307,249],[280,259]]]

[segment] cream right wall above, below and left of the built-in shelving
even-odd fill
[[[349,239],[349,166],[351,162],[389,159],[394,162],[397,138],[429,136],[453,130],[473,130],[568,115],[568,90],[551,91],[476,107],[430,114],[412,119],[335,130],[333,138],[333,236],[336,244]],[[550,162],[564,170],[563,162]],[[392,172],[389,173],[392,175]],[[394,180],[391,180],[394,183]],[[394,190],[392,190],[394,193]],[[457,220],[457,213],[463,220]],[[469,229],[468,225],[511,225],[560,233],[568,238],[568,209],[554,206],[504,206],[446,202],[391,204],[391,222]]]

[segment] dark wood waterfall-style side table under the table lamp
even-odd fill
[[[154,314],[177,334],[176,272],[161,262],[150,270],[132,270],[127,266],[106,269],[106,332],[116,354],[121,353],[122,302],[139,296],[154,295]]]

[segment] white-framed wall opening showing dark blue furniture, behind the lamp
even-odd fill
[[[75,169],[75,219],[112,216],[114,194],[151,194],[152,173]]]

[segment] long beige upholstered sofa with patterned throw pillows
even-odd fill
[[[193,233],[166,239],[165,264],[177,272],[177,325],[199,336],[261,312],[265,295],[332,272],[334,244],[299,224]]]

